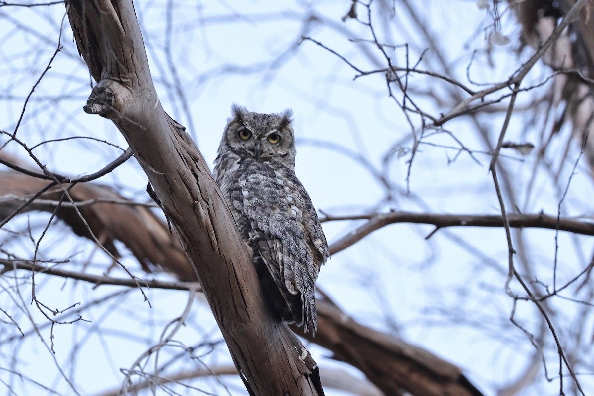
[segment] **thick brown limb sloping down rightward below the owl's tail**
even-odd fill
[[[335,305],[318,301],[315,338],[292,327],[302,337],[334,352],[334,359],[356,366],[386,395],[482,396],[462,370],[432,353],[359,324]]]

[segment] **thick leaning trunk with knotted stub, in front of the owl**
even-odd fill
[[[131,0],[68,2],[75,41],[97,81],[84,110],[111,119],[146,172],[219,324],[233,361],[257,395],[317,395],[315,369],[271,318],[251,252],[208,166],[166,115],[151,79]]]

